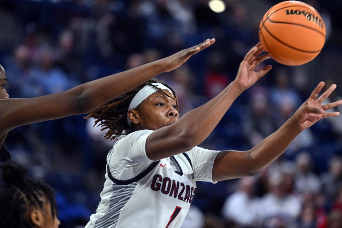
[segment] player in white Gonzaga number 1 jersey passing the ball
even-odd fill
[[[149,80],[90,113],[107,138],[123,137],[108,153],[106,181],[96,214],[86,228],[181,227],[196,193],[196,181],[255,175],[281,155],[291,141],[325,112],[342,104],[321,103],[320,82],[310,98],[284,125],[248,151],[213,151],[197,147],[219,123],[233,101],[272,66],[255,67],[269,58],[261,44],[241,62],[236,79],[206,104],[179,118],[178,102],[167,84]]]

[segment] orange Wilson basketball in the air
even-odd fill
[[[310,62],[322,50],[326,28],[321,15],[300,1],[274,5],[261,20],[259,39],[278,63],[298,66]]]

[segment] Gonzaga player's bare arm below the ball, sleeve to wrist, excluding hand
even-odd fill
[[[206,104],[187,112],[177,122],[158,129],[147,138],[149,158],[158,160],[187,151],[200,144],[220,122],[223,115],[241,94],[232,82]]]

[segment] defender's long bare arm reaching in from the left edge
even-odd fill
[[[62,93],[27,99],[2,99],[0,138],[17,126],[90,112],[156,75],[176,69],[214,42],[215,39],[207,39],[153,63],[84,83]]]

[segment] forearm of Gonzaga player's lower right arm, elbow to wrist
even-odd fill
[[[266,137],[258,145],[250,149],[248,170],[255,174],[276,160],[302,131],[295,120],[290,118],[276,132]]]

